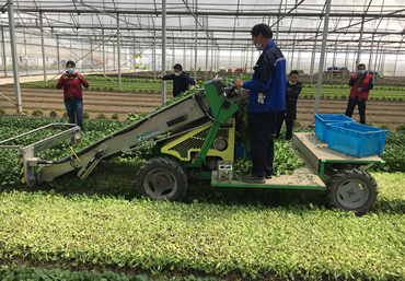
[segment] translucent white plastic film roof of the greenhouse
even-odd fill
[[[40,17],[49,38],[89,42],[116,38],[121,46],[162,43],[162,1],[134,0],[13,0],[16,32],[39,34]],[[8,1],[0,1],[0,24],[9,27]],[[167,0],[166,43],[173,46],[253,48],[250,32],[257,23],[271,26],[282,49],[320,48],[325,1],[317,0]],[[119,23],[117,24],[117,21]],[[197,25],[196,25],[197,22]],[[197,36],[196,36],[197,26]],[[329,50],[356,50],[373,46],[404,54],[405,3],[400,0],[332,0],[327,32]],[[362,30],[362,36],[360,36]],[[278,31],[278,32],[277,32]]]

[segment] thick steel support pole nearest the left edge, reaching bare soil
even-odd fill
[[[13,1],[8,0],[7,4],[8,4],[8,12],[9,12],[9,33],[10,33],[10,45],[11,45],[11,57],[12,57],[12,62],[13,62],[13,80],[14,80],[16,112],[22,113],[23,106],[21,102],[19,63],[18,63],[18,57],[16,57]],[[3,39],[4,39],[4,36],[3,36]]]

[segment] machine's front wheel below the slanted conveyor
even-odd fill
[[[139,195],[154,200],[182,200],[187,190],[187,177],[173,160],[154,157],[144,163],[137,173]]]

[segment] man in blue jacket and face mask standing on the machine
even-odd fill
[[[267,24],[256,24],[251,35],[256,49],[263,52],[253,68],[252,81],[233,81],[234,86],[250,90],[246,112],[253,166],[242,182],[265,184],[273,176],[276,116],[286,108],[286,58]]]

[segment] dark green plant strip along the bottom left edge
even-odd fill
[[[91,280],[91,281],[216,281],[215,278],[196,278],[195,276],[188,276],[184,278],[150,278],[147,273],[138,274],[135,277],[128,277],[123,273],[114,273],[112,271],[104,271],[103,273],[94,272],[94,271],[69,271],[69,270],[60,270],[60,269],[36,269],[36,268],[27,268],[25,266],[21,266],[20,268],[2,268],[0,269],[0,280],[1,281],[28,281],[28,280],[37,280],[37,281],[82,281],[82,280]]]

